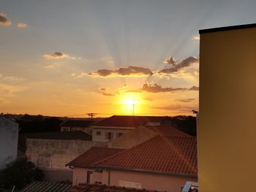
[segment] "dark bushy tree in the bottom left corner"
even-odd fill
[[[42,177],[42,170],[38,169],[28,158],[17,158],[7,164],[1,172],[0,188],[12,188],[15,185],[16,189],[21,189],[34,180],[42,180]]]

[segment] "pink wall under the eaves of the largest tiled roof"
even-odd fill
[[[118,181],[138,183],[149,190],[180,192],[187,181],[197,182],[197,178],[110,170],[110,185],[118,186]],[[102,173],[102,184],[108,185],[108,171]]]

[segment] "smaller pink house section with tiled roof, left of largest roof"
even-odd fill
[[[123,150],[106,147],[91,147],[86,153],[70,161],[66,166],[72,168],[73,185],[78,185],[79,183],[101,183],[102,173],[95,171],[91,164],[121,151]]]

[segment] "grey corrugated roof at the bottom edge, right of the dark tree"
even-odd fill
[[[40,192],[56,192],[56,191],[61,191],[61,192],[68,192],[72,188],[71,184],[65,184],[65,183],[50,183],[50,182],[45,182],[45,181],[35,181],[26,188],[23,188],[21,192],[35,192],[35,191],[40,191]]]

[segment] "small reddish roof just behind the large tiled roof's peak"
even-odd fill
[[[145,126],[145,127],[162,136],[192,137],[189,134],[186,134],[183,131],[180,131],[177,128],[173,128],[171,126]]]

